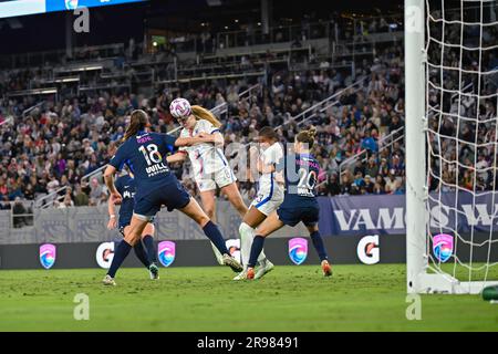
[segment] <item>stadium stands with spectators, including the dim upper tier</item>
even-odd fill
[[[329,35],[322,30],[313,38]],[[179,48],[137,54],[141,45],[133,51],[113,44],[81,49],[71,60],[55,61],[56,66],[50,62],[1,71],[2,205],[10,207],[15,198],[61,208],[104,204],[106,191],[94,171],[113,155],[131,110],[145,108],[154,129],[169,132],[175,122],[168,104],[176,96],[207,108],[226,104],[220,118],[227,143],[247,143],[264,125],[278,127],[287,140],[300,128],[317,126],[320,195],[403,194],[404,63],[398,30],[366,22],[360,37],[345,30],[338,33],[332,58],[300,40],[284,50],[249,45],[239,54],[199,46],[186,59]],[[308,43],[304,34],[302,39]],[[238,38],[230,45],[246,40]],[[261,38],[255,45],[266,42],[271,40]],[[489,58],[490,65],[496,61]],[[257,90],[239,95],[253,84]],[[486,104],[484,114],[492,110]],[[479,163],[489,158],[483,154]],[[174,168],[195,194],[188,165]],[[488,179],[479,183],[486,186]],[[247,196],[255,192],[251,183],[240,187]]]

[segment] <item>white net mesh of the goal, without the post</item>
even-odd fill
[[[497,34],[496,1],[426,1],[426,254],[460,281],[497,278]]]

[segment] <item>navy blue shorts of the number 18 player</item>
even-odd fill
[[[162,188],[151,190],[148,195],[135,196],[134,214],[144,217],[153,217],[160,210],[162,206],[166,206],[168,211],[181,209],[190,202],[190,195],[177,181],[174,185],[166,185]]]

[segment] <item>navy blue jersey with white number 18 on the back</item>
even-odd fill
[[[175,142],[176,137],[172,135],[139,132],[120,146],[110,164],[117,170],[124,165],[129,167],[135,177],[135,198],[177,184],[166,163],[166,155],[175,149]]]

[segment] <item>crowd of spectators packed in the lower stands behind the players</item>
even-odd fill
[[[496,38],[492,30],[489,35]],[[496,63],[496,58],[492,53],[489,55],[485,60],[490,67]],[[398,44],[377,49],[374,60],[364,59],[356,63],[354,80],[365,77],[360,90],[344,90],[354,80],[350,73],[340,70],[291,72],[270,69],[262,88],[245,100],[240,100],[238,94],[249,86],[248,82],[241,80],[222,84],[212,81],[209,85],[203,84],[195,88],[165,88],[153,97],[118,90],[97,95],[59,97],[58,101],[49,97],[42,106],[25,115],[23,111],[37,103],[33,97],[9,100],[3,94],[23,87],[32,75],[37,75],[37,71],[14,71],[12,74],[3,71],[3,80],[0,81],[0,96],[3,96],[0,98],[0,200],[7,208],[17,198],[33,200],[61,190],[60,198],[54,201],[60,208],[105,204],[107,194],[98,178],[83,180],[82,177],[108,162],[124,135],[132,110],[146,110],[156,132],[166,133],[176,127],[168,113],[168,105],[177,96],[207,108],[225,102],[228,104],[222,128],[226,146],[229,143],[251,142],[258,129],[267,125],[278,129],[282,142],[292,142],[300,128],[314,125],[319,144],[313,153],[322,167],[319,185],[322,196],[404,194],[403,69],[403,46]],[[344,92],[339,96],[338,105],[324,112],[317,111],[305,122],[293,119],[341,90]],[[434,95],[429,98],[437,101]],[[448,100],[445,98],[445,105],[454,103],[446,102]],[[483,115],[496,117],[496,100],[495,103],[483,102]],[[454,121],[444,117],[440,122],[440,129],[446,129],[448,136],[456,134]],[[481,131],[483,138],[494,139],[495,129],[488,125],[488,131]],[[458,134],[465,139],[465,136],[471,137],[473,132],[466,124]],[[387,136],[390,138],[385,139]],[[446,140],[443,144],[448,147],[452,143]],[[494,155],[489,149],[487,153],[479,152],[478,162],[470,158],[471,146],[460,152],[467,152],[459,157],[461,164],[477,168],[491,166]],[[234,152],[228,149],[226,154],[228,157],[234,156]],[[455,154],[455,149],[448,149],[448,154]],[[359,156],[356,160],[349,159],[355,155]],[[342,165],[350,160],[353,160],[352,166]],[[173,168],[184,185],[196,194],[188,164],[174,165]],[[445,168],[442,178],[454,178],[455,168],[456,164]],[[458,184],[474,188],[469,174],[461,171]],[[480,174],[477,183],[484,184],[483,188],[489,188],[491,175]],[[439,188],[454,189],[449,181],[430,186],[432,190]],[[240,181],[240,189],[248,198],[256,194],[253,181]]]

